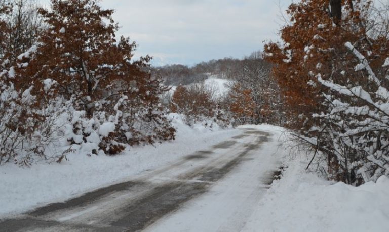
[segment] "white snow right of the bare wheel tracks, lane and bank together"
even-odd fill
[[[388,231],[387,177],[361,187],[327,181],[305,171],[306,154],[277,141],[285,140],[282,128],[256,128],[274,134],[273,142],[258,150],[259,162],[242,164],[147,231]],[[278,165],[288,168],[266,189],[264,171]]]

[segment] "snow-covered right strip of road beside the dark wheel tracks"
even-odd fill
[[[268,190],[284,154],[281,127],[247,126],[268,133],[267,140],[244,156],[244,162],[199,198],[145,231],[242,231]],[[255,131],[254,130],[254,131]],[[261,231],[261,230],[254,230]]]

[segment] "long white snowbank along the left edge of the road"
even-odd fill
[[[114,157],[73,154],[61,164],[34,164],[31,168],[13,164],[1,166],[0,218],[126,181],[145,170],[173,163],[240,133],[235,129],[220,130],[216,126],[190,128],[182,122],[180,115],[170,117],[177,129],[177,139],[173,142],[127,148],[124,154]],[[109,132],[109,125],[103,130]]]

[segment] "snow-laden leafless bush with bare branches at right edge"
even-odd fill
[[[322,121],[322,127],[312,131],[322,131],[318,137],[321,144],[315,146],[331,152],[339,172],[349,173],[345,181],[360,184],[358,179],[368,182],[389,176],[389,91],[368,60],[351,43],[345,46],[360,61],[356,70],[368,74],[365,81],[370,86],[367,90],[358,83],[343,86],[318,74],[318,81],[332,94],[325,94],[328,113],[314,115]]]

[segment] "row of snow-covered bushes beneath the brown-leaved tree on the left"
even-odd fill
[[[88,117],[86,111],[76,109],[73,99],[54,94],[55,80],[45,79],[41,85],[16,90],[9,81],[12,70],[2,72],[0,82],[0,164],[61,162],[69,153],[113,155],[127,144],[174,139],[175,130],[165,111],[155,107],[157,98],[142,106],[141,100],[130,101],[124,96],[110,111],[96,111]],[[34,87],[41,90],[33,93]],[[39,100],[36,93],[41,94]]]

